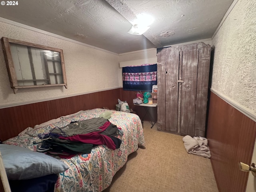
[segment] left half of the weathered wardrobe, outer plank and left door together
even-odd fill
[[[178,132],[179,47],[170,47],[157,55],[158,130]]]

